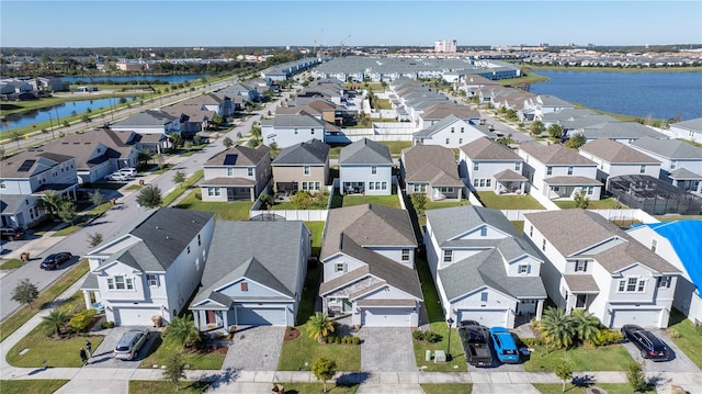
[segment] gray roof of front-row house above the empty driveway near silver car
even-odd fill
[[[303,222],[218,221],[202,277],[202,288],[193,304],[216,300],[217,288],[247,278],[294,299],[302,292],[297,278],[305,269]],[[213,297],[214,296],[214,297]],[[219,294],[219,299],[229,299]]]

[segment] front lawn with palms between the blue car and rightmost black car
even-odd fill
[[[626,371],[634,359],[622,345],[600,348],[579,347],[564,350],[545,351],[545,347],[535,347],[530,359],[524,361],[528,372],[554,371],[564,357],[570,362],[574,371]]]

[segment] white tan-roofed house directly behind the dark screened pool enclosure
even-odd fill
[[[597,164],[597,179],[604,184],[609,177],[645,175],[657,178],[660,173],[660,161],[613,139],[591,140],[582,145],[579,153]]]

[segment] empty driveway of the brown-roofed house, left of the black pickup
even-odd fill
[[[361,338],[361,370],[367,372],[417,371],[412,336],[409,328],[363,327]]]

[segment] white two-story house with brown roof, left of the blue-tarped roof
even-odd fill
[[[587,210],[524,214],[524,234],[546,261],[548,297],[607,327],[668,326],[680,270],[607,218]]]

